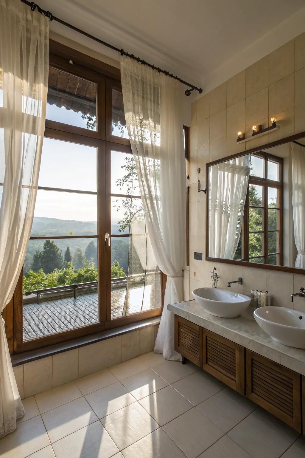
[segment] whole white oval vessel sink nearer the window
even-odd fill
[[[244,294],[218,288],[194,289],[193,298],[211,315],[223,318],[235,318],[245,311],[251,302],[251,298]]]

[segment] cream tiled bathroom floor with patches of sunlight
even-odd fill
[[[304,458],[305,437],[191,363],[148,353],[24,399],[1,458]]]

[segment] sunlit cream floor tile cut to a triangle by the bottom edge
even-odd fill
[[[122,453],[124,458],[185,458],[162,428],[125,448]]]

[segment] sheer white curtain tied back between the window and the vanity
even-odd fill
[[[174,315],[167,310],[167,304],[183,300],[186,259],[185,158],[178,82],[125,56],[121,58],[121,81],[145,222],[157,264],[167,275],[155,352],[167,360],[181,360],[174,350]]]

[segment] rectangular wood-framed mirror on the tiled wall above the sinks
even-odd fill
[[[207,260],[305,269],[305,136],[294,137],[207,164]]]

